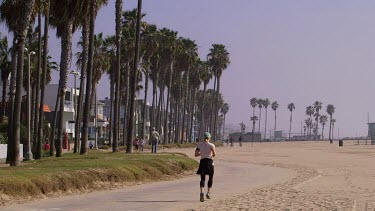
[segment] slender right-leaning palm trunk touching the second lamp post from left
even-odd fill
[[[83,96],[85,95],[85,79],[87,71],[88,60],[88,46],[89,46],[89,19],[86,17],[82,23],[82,64],[81,64],[81,80],[79,84],[78,109],[75,121],[75,138],[74,138],[74,153],[79,152],[79,144],[81,140],[81,123],[83,112]]]

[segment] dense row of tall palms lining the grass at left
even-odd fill
[[[213,132],[213,139],[218,133],[219,111],[225,115],[229,105],[224,104],[220,94],[221,76],[230,63],[229,52],[223,44],[213,44],[207,60],[198,57],[198,46],[189,38],[178,37],[176,31],[162,28],[142,21],[142,0],[132,11],[122,11],[122,0],[116,0],[115,35],[103,37],[94,34],[95,19],[100,8],[107,0],[5,0],[0,5],[0,20],[5,22],[13,34],[12,47],[6,47],[9,59],[7,67],[10,72],[9,93],[9,131],[8,161],[17,166],[20,144],[21,91],[24,72],[24,49],[35,51],[33,61],[35,79],[33,80],[33,118],[34,158],[41,158],[43,135],[43,105],[45,85],[49,82],[53,64],[48,57],[49,28],[57,29],[61,38],[61,58],[59,63],[59,91],[55,111],[64,110],[64,99],[67,88],[67,77],[71,64],[72,35],[81,29],[79,42],[81,52],[77,57],[77,66],[81,69],[80,92],[77,106],[74,152],[85,155],[88,152],[88,124],[90,110],[96,95],[96,86],[103,74],[110,78],[111,118],[110,143],[112,151],[119,150],[120,140],[120,105],[125,106],[123,140],[126,152],[132,152],[134,137],[134,110],[137,93],[143,88],[145,92],[143,114],[146,114],[149,80],[152,81],[152,109],[150,128],[164,131],[163,142],[183,142],[193,136],[194,125],[199,125],[198,136],[204,130]],[[19,12],[14,12],[19,11]],[[44,34],[42,36],[42,16],[44,16]],[[36,22],[37,17],[37,23]],[[34,35],[27,34],[28,29],[36,25]],[[28,42],[28,37],[32,37]],[[37,40],[37,41],[35,41]],[[0,48],[2,46],[0,45]],[[10,56],[9,56],[10,55]],[[1,55],[0,55],[1,56]],[[55,64],[56,66],[56,64]],[[6,79],[4,71],[4,79]],[[9,76],[9,73],[8,73]],[[142,80],[145,86],[140,85]],[[207,89],[211,79],[214,88]],[[6,80],[3,80],[6,81]],[[200,90],[203,84],[203,90]],[[4,89],[5,90],[5,89]],[[83,91],[85,90],[85,91]],[[84,94],[85,93],[85,94]],[[3,94],[3,99],[4,99]],[[38,99],[40,96],[40,100]],[[4,107],[4,106],[3,106]],[[195,118],[197,117],[197,118]],[[142,128],[146,128],[146,116],[143,116]],[[196,122],[194,122],[196,121]],[[52,122],[50,154],[62,156],[63,112],[55,112]],[[55,132],[57,130],[57,132]],[[144,130],[142,130],[144,131]],[[186,131],[186,135],[184,134]],[[145,137],[145,134],[141,134]],[[81,144],[79,144],[81,137]]]

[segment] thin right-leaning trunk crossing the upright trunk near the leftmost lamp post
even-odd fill
[[[43,69],[42,69],[42,83],[40,93],[40,108],[39,108],[39,123],[38,123],[38,140],[43,139],[44,126],[44,94],[46,91],[46,77],[47,77],[47,58],[48,58],[48,26],[49,26],[49,0],[46,1],[46,15],[44,17],[44,45],[43,45]],[[40,146],[41,147],[41,146]],[[38,145],[39,149],[39,145]]]

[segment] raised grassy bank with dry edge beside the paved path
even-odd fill
[[[95,190],[102,189],[99,184],[103,183],[163,180],[170,178],[167,175],[177,176],[197,167],[195,160],[179,153],[67,153],[61,158],[47,157],[19,167],[0,168],[0,194],[22,199],[54,192]]]

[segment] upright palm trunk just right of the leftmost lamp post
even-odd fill
[[[35,148],[35,159],[42,158],[42,140],[38,139],[38,122],[39,122],[39,115],[38,115],[38,104],[39,104],[39,90],[40,90],[40,70],[42,69],[42,14],[39,11],[38,14],[38,64],[36,69],[36,96],[35,96],[35,110],[34,110],[34,143],[36,143]],[[43,107],[43,105],[40,105]]]

